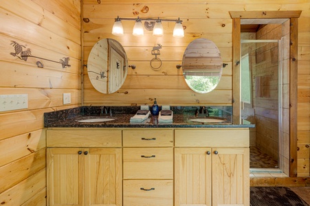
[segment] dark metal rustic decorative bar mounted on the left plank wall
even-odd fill
[[[39,58],[39,59],[42,59],[42,60],[47,60],[47,61],[50,61],[50,62],[55,62],[55,63],[61,64],[63,68],[71,67],[71,65],[69,65],[69,60],[70,60],[69,57],[63,57],[63,58],[61,58],[59,60],[59,62],[57,62],[57,61],[54,61],[54,60],[49,60],[47,58],[41,58],[41,57],[38,57],[38,56],[32,56],[30,48],[27,48],[27,49],[23,50],[23,48],[26,48],[26,47],[24,45],[20,45],[19,43],[16,43],[16,41],[12,41],[11,45],[14,47],[15,52],[11,52],[10,54],[12,56],[18,57],[21,60],[27,61],[28,57],[33,57],[33,58]],[[37,65],[37,67],[43,68],[43,63],[40,62],[40,61],[37,61],[36,65]]]

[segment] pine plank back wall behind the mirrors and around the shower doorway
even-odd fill
[[[232,19],[229,11],[286,11],[302,10],[298,19],[298,175],[309,176],[310,119],[309,119],[309,79],[310,79],[310,3],[305,0],[269,1],[269,0],[180,0],[149,1],[139,3],[130,0],[97,1],[85,0],[83,12],[84,63],[91,47],[102,38],[114,38],[123,46],[129,57],[129,69],[122,88],[113,94],[98,93],[91,86],[87,69],[84,68],[84,103],[86,105],[140,105],[157,103],[170,105],[232,105]],[[111,34],[114,19],[122,18],[157,18],[177,19],[180,17],[186,27],[184,38],[173,38],[174,23],[163,22],[164,36],[154,37],[144,30],[144,37],[131,34],[134,21],[123,21],[124,36]],[[181,59],[188,43],[196,38],[208,38],[219,47],[223,62],[228,66],[223,69],[219,86],[207,94],[192,92],[182,76]],[[154,70],[150,67],[152,47],[162,44],[160,50],[162,67]]]

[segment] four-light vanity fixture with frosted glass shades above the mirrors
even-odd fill
[[[131,18],[118,18],[115,19],[113,28],[112,28],[112,34],[116,36],[123,36],[124,35],[124,29],[122,27],[122,20],[129,20],[129,21],[135,21],[135,25],[133,27],[133,35],[134,36],[143,36],[144,30],[142,26],[142,21],[155,21],[155,25],[153,27],[153,36],[163,36],[164,29],[162,26],[162,21],[175,21],[175,28],[173,30],[173,37],[184,37],[184,29],[182,25],[182,20],[180,19],[140,19],[139,16],[137,19],[131,19]]]

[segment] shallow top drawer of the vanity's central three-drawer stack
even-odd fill
[[[124,147],[173,146],[173,130],[124,130]]]

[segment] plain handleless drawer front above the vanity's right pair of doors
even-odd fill
[[[176,147],[249,147],[248,128],[175,130]]]

